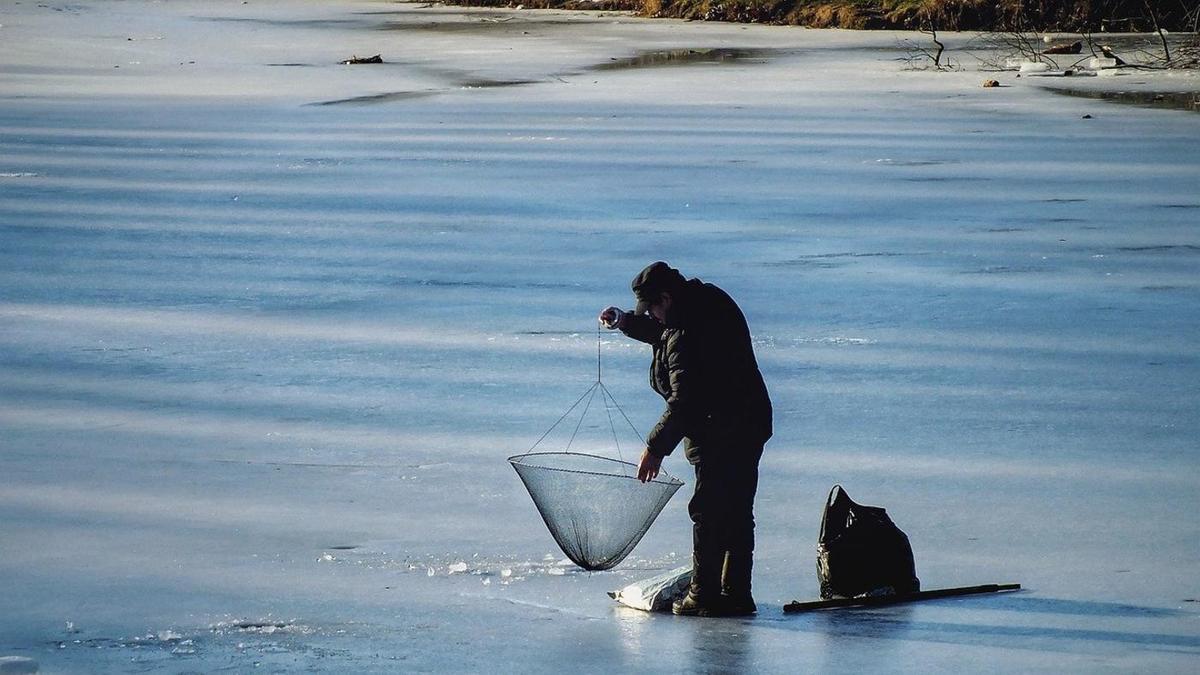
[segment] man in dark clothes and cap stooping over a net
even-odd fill
[[[646,440],[637,478],[653,480],[680,440],[696,470],[691,586],[672,610],[755,614],[754,497],[772,413],[745,317],[724,291],[664,262],[638,273],[632,289],[632,312],[607,307],[600,321],[654,347],[650,386],[667,407]]]

